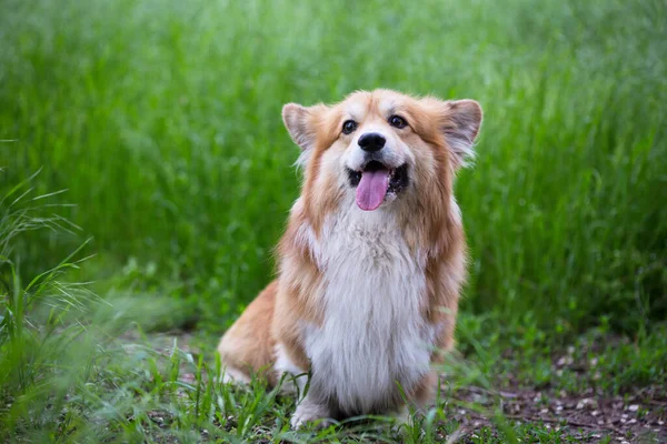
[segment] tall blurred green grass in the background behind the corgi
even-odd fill
[[[4,0],[0,184],[42,168],[38,191],[67,189],[59,214],[94,238],[84,279],[185,301],[220,333],[271,279],[298,195],[285,102],[474,98],[466,315],[650,330],[667,315],[666,27],[651,0]],[[29,274],[78,243],[40,232],[14,253]]]

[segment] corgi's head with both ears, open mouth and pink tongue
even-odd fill
[[[374,211],[434,186],[449,190],[454,172],[472,154],[481,109],[472,100],[376,90],[331,107],[290,103],[282,117],[303,150],[305,186],[313,199],[354,195],[361,210]]]

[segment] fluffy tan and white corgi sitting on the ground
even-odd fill
[[[301,195],[278,278],[220,341],[225,377],[276,384],[287,372],[300,389],[310,377],[295,427],[428,403],[466,279],[452,186],[481,108],[375,90],[289,103],[282,119],[301,148]]]

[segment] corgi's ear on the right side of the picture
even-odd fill
[[[481,125],[481,107],[475,100],[452,100],[445,102],[440,128],[451,150],[454,168],[466,167],[475,158],[475,139]]]

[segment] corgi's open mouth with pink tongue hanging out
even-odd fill
[[[364,211],[374,211],[385,202],[387,195],[398,194],[408,186],[408,164],[388,168],[371,160],[360,171],[348,168],[350,185],[357,189],[357,205]]]

